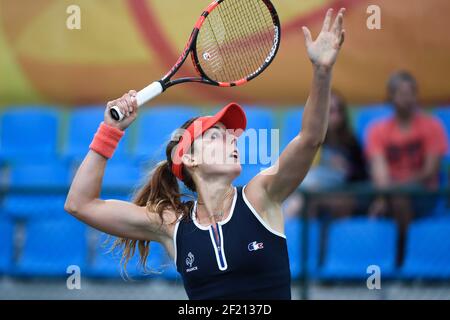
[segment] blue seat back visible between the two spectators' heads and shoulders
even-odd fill
[[[393,114],[389,104],[360,107],[355,115],[355,133],[359,143],[365,145],[367,133],[377,120],[385,119]]]

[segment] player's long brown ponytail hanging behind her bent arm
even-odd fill
[[[189,217],[194,201],[182,201],[181,197],[185,194],[180,192],[177,178],[172,173],[172,151],[180,141],[182,130],[186,129],[198,117],[194,117],[186,121],[172,135],[166,146],[166,160],[159,162],[149,174],[146,182],[134,193],[132,202],[138,206],[145,206],[147,212],[159,214],[163,223],[163,212],[171,210],[175,212],[178,219]],[[193,148],[191,148],[193,152]],[[192,176],[187,169],[183,167],[183,183],[191,191],[196,192],[195,184]],[[176,220],[171,222],[176,223]],[[136,248],[139,251],[139,264],[144,272],[147,272],[146,262],[150,253],[150,241],[135,240],[129,238],[117,238],[110,251],[122,249],[122,271],[127,275],[127,264],[131,257],[134,256]]]

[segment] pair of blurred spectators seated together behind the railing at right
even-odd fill
[[[412,74],[392,74],[386,93],[393,113],[371,123],[362,141],[352,131],[345,98],[332,92],[325,141],[299,190],[334,192],[311,197],[306,207],[308,217],[391,217],[399,228],[401,249],[411,220],[434,211],[438,196],[424,192],[445,184],[439,174],[448,139],[442,123],[421,108],[418,89]],[[350,196],[339,193],[343,188],[372,188],[375,193],[406,189],[414,196],[381,192],[378,196]],[[305,205],[302,192],[293,194],[285,203],[286,216],[298,216]]]

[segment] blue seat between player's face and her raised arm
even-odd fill
[[[244,110],[247,115],[247,129],[237,143],[241,162],[270,166],[271,157],[276,160],[279,156],[271,153],[271,130],[277,129],[275,113],[269,108],[256,106],[244,107]]]

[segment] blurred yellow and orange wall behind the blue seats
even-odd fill
[[[100,103],[164,75],[210,0],[0,0],[0,105]],[[287,106],[307,98],[311,67],[301,26],[317,35],[325,10],[345,6],[346,43],[334,87],[352,104],[383,101],[397,69],[418,79],[425,104],[450,101],[450,1],[273,0],[281,48],[270,68],[243,87],[187,84],[152,103],[241,103]],[[369,30],[367,7],[381,8],[381,30]],[[81,9],[69,30],[66,9]],[[176,17],[176,18],[175,18]],[[189,64],[186,64],[189,65]],[[190,70],[190,66],[187,72]]]

